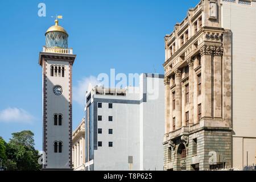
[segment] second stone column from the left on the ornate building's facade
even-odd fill
[[[175,70],[175,119],[176,128],[179,129],[182,126],[181,121],[181,71],[180,69]]]

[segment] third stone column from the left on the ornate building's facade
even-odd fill
[[[191,57],[187,60],[188,67],[189,67],[189,78],[188,78],[188,89],[189,89],[189,125],[193,125],[193,123],[196,123],[194,121],[194,63]]]

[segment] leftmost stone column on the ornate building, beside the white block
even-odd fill
[[[169,121],[170,121],[170,78],[164,78],[164,86],[165,86],[165,104],[166,104],[166,112],[165,112],[165,133],[169,132]]]

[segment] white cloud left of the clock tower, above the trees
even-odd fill
[[[35,118],[26,110],[18,109],[16,107],[9,107],[0,111],[0,122],[31,123],[34,119]]]

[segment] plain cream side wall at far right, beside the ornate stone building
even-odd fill
[[[256,151],[256,2],[222,2],[222,27],[232,31],[233,166],[255,163]]]

